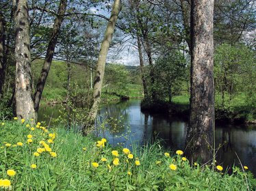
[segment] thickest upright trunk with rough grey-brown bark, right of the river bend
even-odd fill
[[[192,0],[190,121],[185,153],[190,161],[213,159],[214,143],[214,0]]]

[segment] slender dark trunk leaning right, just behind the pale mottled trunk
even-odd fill
[[[54,49],[57,44],[57,36],[60,32],[60,25],[66,12],[67,0],[61,0],[59,10],[57,11],[57,17],[54,20],[53,31],[51,33],[51,39],[47,48],[47,55],[45,55],[44,65],[36,85],[36,91],[34,93],[35,111],[38,113],[40,100],[42,98],[42,91],[51,68],[51,61],[53,60]]]

